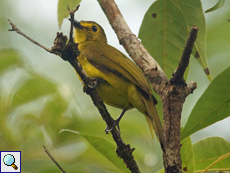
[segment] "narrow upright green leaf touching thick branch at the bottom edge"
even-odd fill
[[[181,142],[181,160],[184,173],[194,173],[193,148],[190,137]]]

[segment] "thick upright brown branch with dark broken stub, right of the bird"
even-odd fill
[[[163,155],[165,172],[181,172],[182,169],[180,156],[181,113],[185,98],[197,87],[195,82],[190,82],[187,85],[183,79],[183,75],[189,64],[197,32],[197,27],[193,26],[177,70],[170,79],[172,85],[168,88],[168,95],[162,99],[164,111],[163,133],[166,141],[166,152]]]

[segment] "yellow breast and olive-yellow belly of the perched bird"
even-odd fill
[[[78,61],[90,78],[104,80],[96,87],[96,91],[106,104],[120,109],[131,109],[133,108],[133,99],[139,100],[139,97],[136,95],[137,89],[135,84],[112,72],[104,74],[82,55],[78,57]],[[132,97],[130,97],[131,95]]]

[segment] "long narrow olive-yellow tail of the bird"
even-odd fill
[[[157,110],[155,108],[155,105],[152,99],[142,98],[142,101],[146,107],[145,117],[147,119],[152,137],[154,139],[154,131],[155,131],[156,136],[161,144],[161,148],[164,151],[164,137],[163,137],[162,125]]]

